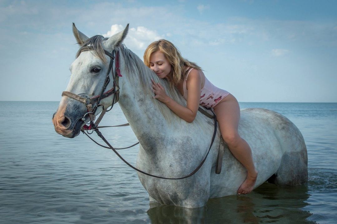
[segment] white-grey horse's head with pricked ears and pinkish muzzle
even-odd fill
[[[113,77],[111,69],[109,69],[109,61],[111,57],[104,53],[104,50],[113,52],[124,40],[128,32],[128,25],[124,31],[115,34],[109,39],[100,35],[88,38],[86,35],[76,29],[73,24],[73,34],[76,41],[81,46],[76,59],[70,66],[70,81],[66,88],[66,92],[72,93],[74,96],[85,98],[93,98],[101,94],[107,76],[110,76],[110,82],[105,91],[113,88]],[[91,47],[91,50],[85,48]],[[64,137],[73,138],[79,135],[81,127],[85,124],[85,120],[89,117],[84,116],[88,112],[86,103],[75,99],[69,94],[62,94],[59,107],[53,115],[53,124],[55,131]],[[105,108],[112,105],[112,98],[107,97],[100,101]],[[83,100],[82,100],[83,101]],[[88,103],[87,103],[88,104]],[[92,108],[97,102],[92,102]],[[98,114],[102,107],[99,106],[95,111]]]

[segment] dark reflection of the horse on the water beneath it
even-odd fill
[[[306,186],[264,183],[248,195],[210,199],[202,208],[158,205],[147,213],[152,223],[315,223],[303,209],[309,196]]]

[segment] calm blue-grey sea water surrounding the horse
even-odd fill
[[[337,103],[241,102],[241,109],[277,111],[300,129],[308,184],[264,183],[250,194],[210,199],[198,209],[150,208],[136,172],[111,150],[83,134],[68,139],[55,132],[57,107],[58,102],[0,101],[0,223],[337,222]],[[126,122],[116,105],[101,125]],[[114,147],[137,142],[130,127],[101,131]],[[138,150],[139,145],[120,153],[135,164]]]

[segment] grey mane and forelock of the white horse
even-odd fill
[[[83,46],[92,46],[93,53],[95,56],[100,58],[102,61],[106,62],[104,49],[102,47],[102,41],[107,40],[108,38],[104,38],[101,35],[96,35],[89,38]],[[117,47],[117,49],[121,55],[121,58],[124,59],[124,63],[122,66],[125,67],[126,72],[129,75],[129,78],[132,79],[135,83],[139,83],[140,86],[143,88],[143,92],[145,95],[150,96],[153,104],[159,108],[159,111],[164,116],[164,118],[171,123],[171,121],[180,120],[179,117],[164,103],[160,102],[159,100],[155,99],[152,92],[152,82],[153,79],[155,82],[160,83],[165,88],[165,92],[167,96],[171,97],[180,105],[186,106],[186,100],[184,97],[179,93],[176,88],[170,87],[170,83],[166,79],[160,79],[151,69],[149,69],[144,62],[131,50],[129,50],[124,44],[121,44]],[[80,50],[77,52],[76,57],[80,55]],[[200,113],[197,113],[194,121],[198,124],[204,124],[205,117]]]

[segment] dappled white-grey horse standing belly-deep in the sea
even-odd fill
[[[168,82],[159,79],[122,44],[127,32],[128,26],[109,39],[99,35],[88,38],[73,25],[73,34],[79,45],[92,46],[95,50],[78,52],[70,66],[71,77],[66,91],[84,97],[99,95],[108,72],[106,62],[110,60],[103,49],[118,51],[122,74],[119,78],[119,105],[140,142],[136,167],[163,177],[185,176],[204,159],[212,138],[213,120],[198,112],[195,120],[187,123],[154,99],[151,79],[164,86],[168,96],[186,105],[177,90],[169,88]],[[112,82],[107,89],[111,88]],[[111,106],[112,96],[103,99],[101,104]],[[69,138],[77,136],[84,125],[81,118],[86,112],[83,103],[63,96],[53,116],[56,132]],[[99,112],[97,110],[96,114]],[[282,186],[307,182],[304,139],[287,118],[267,109],[245,109],[241,111],[239,133],[249,143],[258,170],[254,188],[267,180]],[[138,172],[141,183],[149,192],[150,204],[198,208],[204,206],[209,198],[237,194],[247,172],[225,145],[222,172],[215,174],[220,137],[218,131],[208,158],[191,177],[165,180]]]

